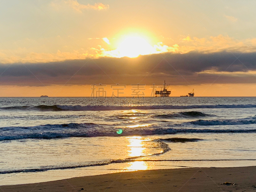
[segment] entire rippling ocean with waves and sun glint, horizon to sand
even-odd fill
[[[255,166],[255,109],[254,97],[0,98],[0,185]]]

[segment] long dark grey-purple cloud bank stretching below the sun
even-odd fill
[[[239,57],[237,60],[236,57]],[[164,59],[165,58],[165,59]],[[241,63],[242,62],[242,63]],[[153,54],[138,58],[99,58],[50,63],[0,64],[1,85],[256,83],[256,76],[198,74],[205,70],[256,70],[256,52]],[[25,67],[26,66],[26,67]],[[39,80],[42,82],[40,82]],[[217,79],[217,80],[216,80]]]

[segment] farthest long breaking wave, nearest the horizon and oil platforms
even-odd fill
[[[130,109],[193,109],[193,108],[256,108],[256,104],[247,105],[163,105],[163,106],[91,106],[91,105],[39,105],[39,106],[13,106],[2,110],[71,110],[71,111],[104,111],[104,110],[130,110]]]

